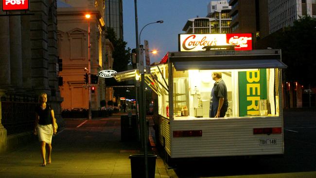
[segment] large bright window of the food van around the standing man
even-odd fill
[[[227,86],[225,118],[278,116],[279,69],[187,70],[173,72],[175,119],[209,118],[211,74],[222,72]]]

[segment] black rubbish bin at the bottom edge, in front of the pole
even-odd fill
[[[145,178],[145,158],[144,155],[130,155],[132,178]],[[155,178],[157,155],[147,155],[148,178]]]

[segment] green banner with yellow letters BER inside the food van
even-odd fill
[[[259,101],[267,99],[266,69],[239,71],[239,117],[260,115]]]

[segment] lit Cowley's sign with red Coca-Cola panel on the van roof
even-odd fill
[[[252,50],[252,34],[179,34],[179,51],[205,51],[205,46],[234,45],[236,51]]]

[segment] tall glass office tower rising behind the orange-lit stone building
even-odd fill
[[[105,24],[123,39],[123,0],[105,0]]]

